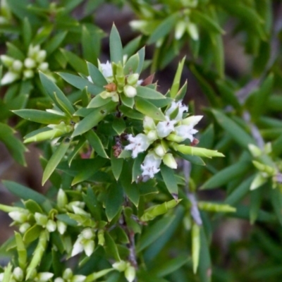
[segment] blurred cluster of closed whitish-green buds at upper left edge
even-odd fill
[[[8,68],[8,72],[1,79],[1,85],[8,85],[16,80],[33,78],[37,69],[48,71],[49,63],[45,62],[47,51],[40,49],[39,45],[28,48],[27,58],[24,61],[11,56],[1,55],[1,61]]]

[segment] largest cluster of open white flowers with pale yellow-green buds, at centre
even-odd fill
[[[140,152],[145,152],[150,146],[152,147],[141,165],[143,177],[153,178],[154,174],[160,170],[161,161],[170,168],[177,168],[176,160],[169,152],[169,148],[174,142],[179,143],[186,139],[192,142],[193,135],[197,133],[194,126],[202,118],[202,116],[183,118],[185,111],[188,111],[188,107],[182,102],[172,102],[164,113],[166,121],[154,121],[153,118],[145,116],[144,133],[136,136],[128,135],[130,144],[125,146],[125,150],[132,151],[133,158]]]

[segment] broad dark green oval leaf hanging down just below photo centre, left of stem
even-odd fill
[[[106,217],[109,221],[114,219],[123,205],[123,188],[120,183],[113,183],[106,193]]]

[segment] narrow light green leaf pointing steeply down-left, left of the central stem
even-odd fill
[[[53,171],[56,169],[61,159],[63,159],[63,157],[65,156],[68,150],[68,147],[70,147],[70,145],[71,145],[70,141],[67,142],[66,140],[63,140],[61,144],[59,145],[59,147],[54,152],[54,154],[52,154],[51,158],[48,161],[46,168],[44,169],[44,173],[42,176],[42,185],[44,185],[44,183],[46,183],[46,181],[49,179],[49,177],[51,176]]]

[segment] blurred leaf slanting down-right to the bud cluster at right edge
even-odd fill
[[[243,128],[241,128],[237,123],[228,118],[225,114],[220,111],[212,110],[212,114],[216,118],[216,121],[221,125],[221,127],[228,132],[235,142],[238,142],[242,147],[247,148],[247,145],[254,144],[255,141],[248,135]]]

